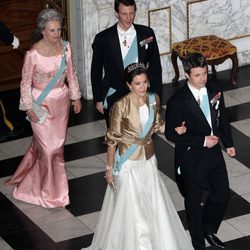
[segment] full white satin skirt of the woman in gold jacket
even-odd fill
[[[166,187],[155,156],[126,161],[107,187],[94,238],[88,250],[193,249]]]

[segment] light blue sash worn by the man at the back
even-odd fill
[[[136,59],[138,58],[138,46],[137,46],[137,37],[135,36],[130,49],[125,56],[123,60],[123,67],[124,69],[131,63],[136,62]],[[114,88],[109,88],[107,95],[105,96],[105,99],[103,101],[103,108],[107,109],[108,108],[108,102],[107,102],[107,97],[113,95],[116,92],[116,89]]]

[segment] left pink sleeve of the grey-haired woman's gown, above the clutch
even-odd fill
[[[32,109],[32,94],[31,86],[32,79],[35,70],[35,64],[31,51],[27,51],[24,57],[24,63],[22,68],[22,80],[20,84],[21,98],[19,109],[28,110]]]

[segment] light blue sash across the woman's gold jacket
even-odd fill
[[[149,117],[147,120],[147,123],[144,126],[143,131],[140,133],[139,138],[143,139],[149,132],[152,123],[154,121],[154,108],[153,108],[153,103],[155,101],[155,96],[154,94],[149,93]],[[138,144],[132,144],[126,152],[120,156],[118,148],[115,151],[115,164],[113,168],[113,175],[119,175],[119,172],[122,168],[122,164],[127,161],[130,156],[136,151],[138,147]]]

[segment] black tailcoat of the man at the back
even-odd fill
[[[162,96],[162,68],[159,49],[154,31],[143,25],[134,24],[137,36],[138,61],[148,66],[150,91]],[[140,42],[153,37],[148,45],[141,46]],[[93,57],[91,64],[91,83],[94,102],[103,101],[109,88],[116,93],[108,98],[109,108],[121,96],[128,93],[124,81],[124,67],[120,48],[117,24],[98,33],[92,44]]]

